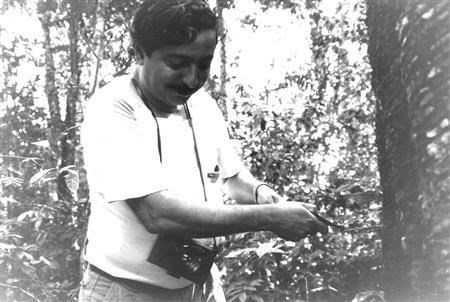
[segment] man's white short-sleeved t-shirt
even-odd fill
[[[222,203],[220,178],[237,174],[241,162],[229,141],[215,101],[203,90],[188,101],[208,202]],[[158,118],[137,94],[131,75],[115,78],[89,100],[81,139],[90,191],[86,260],[109,274],[165,288],[190,281],[147,262],[156,234],[149,233],[126,203],[161,190],[205,202],[188,120]]]

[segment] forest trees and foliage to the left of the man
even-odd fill
[[[127,23],[138,2],[2,7],[34,18],[43,30],[34,38],[11,38],[14,30],[2,36],[8,42],[1,46],[2,301],[76,297],[88,214],[78,137],[82,103],[108,73],[130,65]],[[19,74],[26,78],[23,66],[36,77],[18,84]]]

